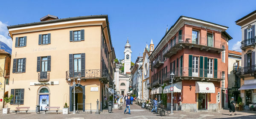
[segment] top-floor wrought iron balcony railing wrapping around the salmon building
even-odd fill
[[[213,50],[221,52],[225,50],[225,42],[221,42],[220,39],[210,39],[204,37],[195,37],[193,35],[179,35],[169,43],[166,51],[163,52],[165,57],[170,57],[176,54],[178,50],[189,46],[189,48],[197,47],[202,49]]]

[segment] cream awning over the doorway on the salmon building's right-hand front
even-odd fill
[[[215,93],[215,86],[212,82],[195,82],[195,93]]]

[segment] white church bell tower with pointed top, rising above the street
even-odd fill
[[[125,44],[125,63],[124,63],[124,74],[127,72],[131,73],[131,45],[129,44],[129,40],[127,38],[126,44]]]

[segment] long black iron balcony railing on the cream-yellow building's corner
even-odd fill
[[[66,79],[68,78],[78,78],[81,79],[107,79],[109,80],[110,75],[108,74],[108,70],[69,70],[66,71]]]

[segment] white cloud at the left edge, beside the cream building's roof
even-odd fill
[[[8,36],[7,24],[0,21],[0,41],[12,49],[12,39]]]

